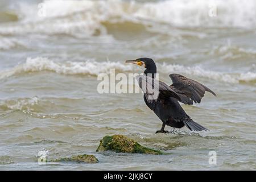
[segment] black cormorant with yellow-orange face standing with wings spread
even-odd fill
[[[152,59],[142,57],[136,60],[127,60],[126,63],[133,63],[146,68],[144,71],[144,77],[142,77],[142,79],[154,80],[156,74],[156,65]],[[168,133],[168,131],[164,130],[166,125],[174,128],[186,126],[191,131],[207,131],[208,129],[193,121],[189,115],[185,113],[178,101],[183,102],[184,104],[192,105],[193,102],[201,102],[201,98],[204,97],[205,91],[212,93],[214,96],[216,96],[216,94],[203,84],[200,84],[199,82],[190,78],[179,74],[171,74],[169,76],[171,77],[172,85],[168,86],[164,82],[159,81],[159,94],[158,98],[155,100],[149,99],[145,89],[143,89],[142,85],[139,84],[143,90],[143,97],[146,105],[152,111],[154,111],[154,113],[163,122],[161,129],[156,131],[156,133]],[[154,88],[154,85],[152,87]]]

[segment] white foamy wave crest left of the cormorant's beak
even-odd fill
[[[59,61],[49,60],[47,57],[28,57],[24,64],[20,64],[13,69],[0,72],[0,78],[9,77],[17,73],[23,72],[40,72],[40,71],[52,71],[61,73],[64,75],[94,75],[97,76],[100,73],[109,73],[110,69],[116,69],[117,71],[131,71],[132,65],[124,65],[119,62],[96,62],[93,60],[87,60],[84,62],[67,61],[61,63]]]

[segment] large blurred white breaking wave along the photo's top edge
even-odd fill
[[[19,5],[19,23],[0,27],[0,34],[71,34],[91,36],[107,34],[104,22],[143,24],[148,31],[173,27],[256,27],[254,0],[168,0],[136,1],[43,1],[40,4]],[[241,8],[241,5],[243,8]],[[216,16],[211,17],[212,7]],[[43,10],[43,11],[41,11]],[[170,28],[170,27],[169,27]],[[170,29],[168,29],[170,30]]]

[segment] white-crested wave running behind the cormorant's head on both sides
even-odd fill
[[[239,82],[255,82],[256,73],[246,72],[246,73],[224,73],[209,71],[200,66],[195,67],[185,67],[179,64],[157,64],[160,73],[182,73],[188,76],[197,76],[201,78],[209,78],[212,80],[229,82],[229,83],[239,83]],[[6,71],[0,72],[0,79],[11,77],[18,74],[26,74],[28,72],[42,72],[49,71],[55,72],[63,75],[90,75],[97,76],[100,73],[110,73],[110,69],[115,69],[115,72],[139,72],[137,68],[133,65],[121,63],[118,61],[103,61],[97,62],[94,60],[87,60],[84,62],[59,62],[49,60],[46,57],[28,57],[26,62],[19,64],[14,68]]]

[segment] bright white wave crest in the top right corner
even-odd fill
[[[178,27],[250,28],[256,26],[255,9],[254,0],[170,0],[145,3],[135,15]]]

